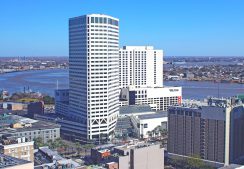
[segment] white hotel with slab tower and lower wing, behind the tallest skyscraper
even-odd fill
[[[181,104],[182,88],[163,86],[163,50],[124,46],[119,55],[120,106],[148,104],[166,111]]]

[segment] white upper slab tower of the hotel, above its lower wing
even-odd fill
[[[120,54],[120,88],[163,86],[163,51],[152,46],[124,46]]]

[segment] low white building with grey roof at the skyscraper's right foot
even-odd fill
[[[167,122],[167,112],[156,112],[149,105],[122,106],[115,134],[137,138],[157,137],[161,136],[160,131],[167,130]]]

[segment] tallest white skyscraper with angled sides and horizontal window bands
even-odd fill
[[[119,20],[101,14],[69,20],[69,111],[76,135],[113,133],[119,111]]]

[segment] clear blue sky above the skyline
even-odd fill
[[[68,19],[120,19],[120,46],[165,56],[244,56],[243,0],[0,0],[1,56],[68,56]]]

